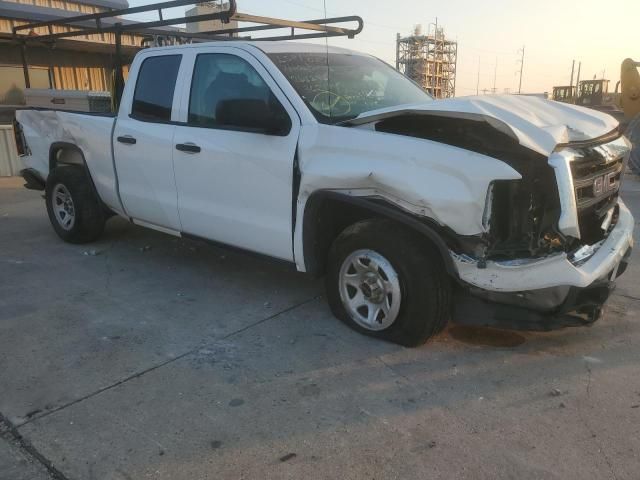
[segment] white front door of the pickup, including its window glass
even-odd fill
[[[190,49],[185,62],[187,55],[193,73],[183,85],[182,118],[174,136],[183,231],[292,260],[297,113],[251,54],[219,46]],[[225,123],[220,112],[229,101],[264,102],[285,122],[289,119],[289,128],[269,134]]]

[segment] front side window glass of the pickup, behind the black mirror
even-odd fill
[[[200,54],[191,80],[190,125],[213,128],[246,126],[243,111],[282,109],[260,74],[230,54]]]

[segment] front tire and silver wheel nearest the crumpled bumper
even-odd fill
[[[422,345],[443,330],[451,312],[451,281],[440,253],[386,219],[358,222],[336,238],[325,287],[338,319],[406,347]],[[362,302],[366,308],[357,307]]]

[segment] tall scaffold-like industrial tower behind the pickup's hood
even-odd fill
[[[457,62],[458,42],[447,39],[437,22],[429,25],[426,35],[421,25],[411,36],[398,34],[396,69],[435,98],[455,96]]]

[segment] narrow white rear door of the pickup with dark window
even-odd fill
[[[173,173],[171,123],[181,54],[146,56],[134,66],[113,132],[119,192],[127,215],[138,223],[180,230]]]

